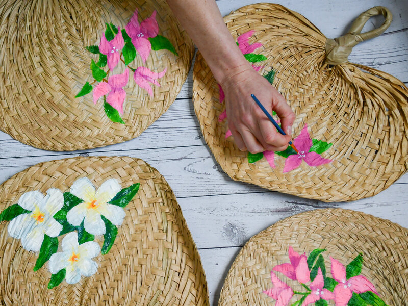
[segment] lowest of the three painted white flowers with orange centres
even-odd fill
[[[62,239],[62,252],[52,254],[48,268],[52,274],[65,269],[65,281],[68,284],[78,283],[81,275],[85,277],[96,273],[98,266],[92,258],[98,256],[100,246],[94,241],[78,244],[78,234],[68,233]]]

